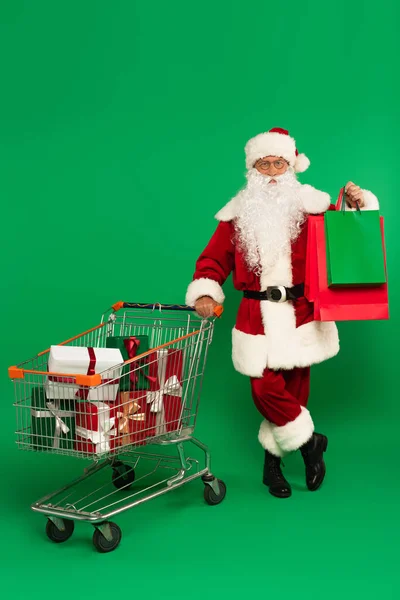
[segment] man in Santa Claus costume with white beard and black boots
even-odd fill
[[[263,481],[279,498],[291,495],[281,457],[300,450],[309,490],[325,477],[328,439],[314,431],[307,409],[310,367],[339,352],[335,323],[314,320],[304,296],[309,215],[333,209],[330,196],[302,185],[296,173],[310,161],[285,129],[274,128],[245,147],[247,184],[216,215],[218,226],[196,263],[186,304],[204,318],[224,302],[231,272],[243,297],[232,332],[233,364],[250,377],[252,396],[264,420]],[[377,209],[370,191],[349,182],[351,209]]]

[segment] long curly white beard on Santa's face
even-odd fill
[[[270,184],[274,179],[277,183]],[[247,185],[237,195],[237,242],[248,267],[257,275],[269,270],[296,240],[304,222],[300,183],[292,169],[279,177],[247,173]]]

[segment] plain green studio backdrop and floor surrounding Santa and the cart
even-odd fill
[[[395,0],[1,2],[5,597],[398,598],[398,17]],[[310,157],[303,182],[336,199],[351,179],[386,219],[391,319],[340,324],[341,354],[314,369],[323,488],[305,490],[298,455],[289,500],[261,484],[229,281],[197,430],[225,502],[206,506],[193,483],[117,518],[114,554],[84,525],[51,544],[29,505],[83,463],[17,451],[6,368],[117,300],[182,302],[244,183],[244,144],[274,126]]]

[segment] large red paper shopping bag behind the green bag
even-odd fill
[[[329,288],[326,262],[325,224],[323,217],[309,218],[311,246],[308,283],[314,294],[314,318],[318,321],[369,321],[389,318],[387,283],[379,287]],[[381,217],[382,241],[384,221]],[[314,236],[314,238],[312,237]],[[354,249],[357,252],[357,249]],[[351,256],[349,256],[351,260]],[[316,265],[316,267],[315,267]],[[386,266],[386,252],[385,252]]]

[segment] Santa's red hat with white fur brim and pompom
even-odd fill
[[[266,133],[251,138],[245,147],[246,168],[252,169],[254,164],[264,156],[280,156],[288,161],[296,173],[303,173],[310,166],[305,154],[299,154],[295,140],[286,129],[274,127]]]

